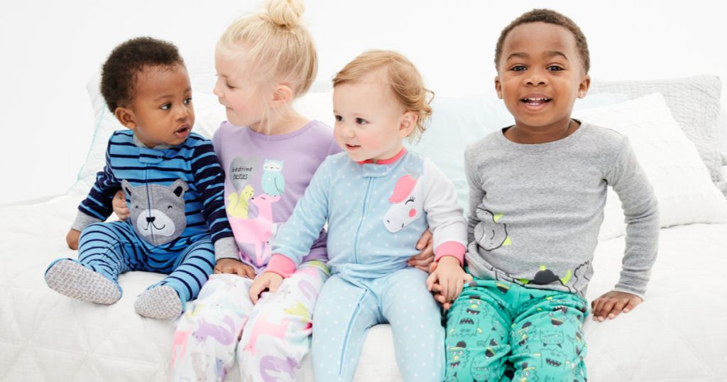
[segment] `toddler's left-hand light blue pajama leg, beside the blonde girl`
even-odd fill
[[[353,381],[369,327],[382,321],[371,291],[339,275],[318,295],[313,313],[313,375],[316,381]]]

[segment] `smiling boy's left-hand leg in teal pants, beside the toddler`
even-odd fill
[[[499,381],[505,374],[512,319],[497,295],[507,291],[496,284],[475,279],[447,312],[445,381]]]

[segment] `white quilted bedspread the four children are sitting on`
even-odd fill
[[[134,297],[160,274],[120,277],[113,306],[52,292],[43,273],[65,248],[80,196],[0,208],[0,381],[166,381],[174,323],[143,319]],[[616,282],[623,238],[599,244],[589,298]],[[590,381],[727,381],[727,224],[662,229],[646,301],[586,325]],[[300,381],[313,381],[304,362]],[[228,381],[238,381],[237,369]],[[372,328],[356,381],[401,381],[387,326]]]

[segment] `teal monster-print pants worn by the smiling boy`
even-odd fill
[[[474,279],[446,325],[446,382],[585,381],[584,298]]]

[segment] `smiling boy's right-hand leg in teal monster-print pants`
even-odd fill
[[[523,306],[511,333],[513,381],[585,381],[587,302],[553,290],[530,290],[529,295],[534,303]]]

